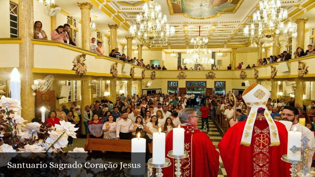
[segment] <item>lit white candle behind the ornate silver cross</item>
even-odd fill
[[[296,128],[294,128],[293,131],[289,131],[288,133],[288,159],[290,160],[301,160],[301,151],[297,151],[296,153],[293,153],[290,149],[293,146],[301,147],[301,139],[302,139],[302,133],[297,132]]]

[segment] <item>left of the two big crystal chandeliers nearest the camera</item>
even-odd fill
[[[142,13],[137,14],[137,26],[130,26],[129,34],[136,38],[136,45],[165,45],[169,37],[175,34],[175,27],[169,26],[166,15],[161,12],[161,5],[150,1],[145,3],[142,8]],[[165,29],[164,29],[165,25]]]

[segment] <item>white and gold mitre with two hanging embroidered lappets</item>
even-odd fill
[[[244,90],[242,96],[243,100],[245,101],[245,104],[247,106],[251,107],[251,109],[243,130],[241,145],[250,146],[258,108],[265,109],[264,115],[269,125],[270,132],[270,146],[280,145],[278,128],[266,107],[269,96],[270,92],[257,83],[252,83],[248,88]]]

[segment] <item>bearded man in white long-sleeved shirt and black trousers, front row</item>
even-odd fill
[[[131,140],[132,134],[129,131],[131,124],[133,123],[127,118],[127,112],[121,112],[122,119],[117,122],[116,126],[116,140]]]

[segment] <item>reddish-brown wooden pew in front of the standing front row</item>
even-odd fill
[[[84,150],[131,152],[131,140],[90,138],[90,134],[87,134]],[[149,150],[152,153],[152,143],[149,144]]]

